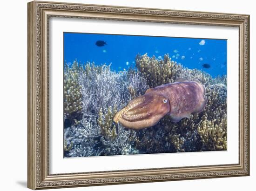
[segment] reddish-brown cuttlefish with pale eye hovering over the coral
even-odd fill
[[[206,104],[205,87],[199,80],[180,78],[174,83],[150,88],[131,100],[115,114],[114,121],[139,130],[156,125],[167,114],[172,122],[190,118],[190,114],[202,112]]]

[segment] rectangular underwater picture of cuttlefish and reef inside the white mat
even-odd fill
[[[227,40],[63,40],[65,158],[227,150]]]

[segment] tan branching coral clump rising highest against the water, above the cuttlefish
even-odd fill
[[[182,66],[172,61],[168,54],[164,55],[164,59],[150,58],[147,53],[142,56],[138,54],[136,67],[150,88],[174,82],[182,72]]]

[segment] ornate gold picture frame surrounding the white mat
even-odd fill
[[[238,29],[237,163],[51,173],[49,67],[51,18]],[[229,65],[230,66],[230,65]],[[236,66],[230,66],[236,67]],[[228,68],[229,70],[229,68]],[[54,76],[54,75],[53,75]],[[229,122],[228,122],[229,123]],[[249,15],[32,1],[28,3],[28,188],[48,189],[249,176]],[[229,139],[228,139],[229,141]],[[229,150],[229,148],[228,148]],[[196,155],[197,153],[195,153]],[[147,157],[147,156],[146,156]],[[68,160],[72,161],[73,158]],[[93,165],[93,164],[92,164]]]

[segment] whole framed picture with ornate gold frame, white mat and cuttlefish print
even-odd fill
[[[249,176],[249,15],[28,3],[28,188]]]

